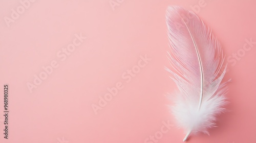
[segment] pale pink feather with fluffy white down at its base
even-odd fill
[[[166,69],[180,91],[171,109],[178,126],[186,132],[185,141],[192,133],[209,134],[216,116],[224,111],[227,88],[221,81],[226,64],[220,43],[196,14],[178,6],[168,7],[166,22],[173,70]]]

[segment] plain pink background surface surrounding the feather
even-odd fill
[[[219,116],[210,136],[191,136],[188,142],[256,142],[256,44],[243,49],[249,46],[246,39],[256,41],[255,1],[115,0],[113,8],[109,2],[37,0],[8,24],[5,17],[22,4],[0,1],[0,93],[8,84],[10,106],[9,139],[4,139],[1,96],[0,142],[153,143],[146,139],[156,134],[162,136],[155,142],[182,142],[183,130],[173,125],[160,133],[163,122],[174,123],[165,96],[176,90],[164,70],[168,5],[197,8],[228,58],[224,80],[232,78],[230,111]],[[87,39],[62,61],[56,54],[80,33]],[[145,55],[148,63],[141,62]],[[58,67],[30,92],[27,84],[52,61]],[[127,70],[138,69],[138,63],[143,67],[128,80]],[[122,89],[95,114],[92,105],[117,83]]]

